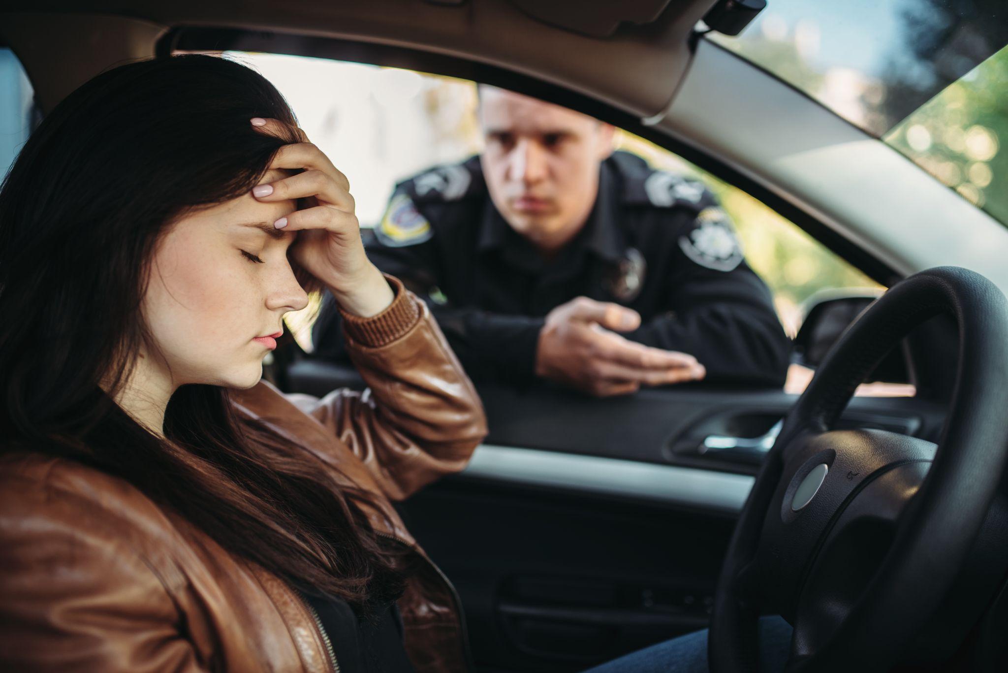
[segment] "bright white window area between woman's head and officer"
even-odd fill
[[[397,181],[480,150],[471,82],[328,59],[225,55],[283,94],[311,142],[350,179],[362,226],[381,219]]]

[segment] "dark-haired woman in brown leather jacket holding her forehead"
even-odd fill
[[[220,58],[107,71],[31,135],[0,191],[0,669],[464,667],[390,500],[485,418],[348,189]],[[363,394],[260,380],[322,286]]]

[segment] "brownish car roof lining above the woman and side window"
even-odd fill
[[[151,51],[143,53],[142,45],[149,41],[151,31],[215,26],[442,53],[563,86],[638,117],[649,117],[668,105],[688,66],[694,26],[715,0],[556,4],[556,8],[566,7],[594,20],[595,30],[611,33],[605,37],[575,32],[572,26],[585,23],[583,17],[568,17],[568,26],[556,27],[553,23],[562,13],[557,14],[556,8],[533,7],[544,4],[549,3],[288,0],[246,3],[237,12],[235,3],[224,0],[134,0],[128,5],[110,0],[14,0],[6,3],[8,10],[0,15],[0,33],[6,35],[29,76],[33,71],[46,74],[39,78],[43,109],[111,63],[152,55]],[[611,31],[601,27],[607,21]],[[45,29],[46,23],[52,24],[53,31]],[[591,29],[587,23],[581,27]],[[27,38],[28,32],[34,34]],[[47,39],[44,48],[27,43],[37,34],[58,39]],[[76,48],[82,39],[88,47],[84,50]],[[123,52],[110,62],[108,57],[116,54],[107,53],[115,48],[108,42],[116,41],[122,42]],[[50,84],[55,70],[67,69],[68,50],[76,62],[70,69],[73,73]]]

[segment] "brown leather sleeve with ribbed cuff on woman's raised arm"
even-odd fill
[[[483,405],[427,306],[394,276],[392,304],[372,318],[341,310],[363,392],[285,397],[367,465],[386,497],[403,499],[462,470],[487,434]]]

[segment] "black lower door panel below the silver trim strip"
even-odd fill
[[[734,524],[465,472],[398,509],[455,583],[481,671],[578,671],[703,628]]]

